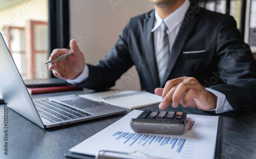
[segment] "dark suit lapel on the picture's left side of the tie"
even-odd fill
[[[154,34],[151,32],[155,22],[155,10],[150,12],[148,17],[144,19],[143,23],[143,35],[145,38],[145,57],[148,66],[150,67],[150,72],[152,79],[154,81],[155,88],[159,87],[160,82],[158,78],[157,63],[155,57],[155,46],[154,46]]]

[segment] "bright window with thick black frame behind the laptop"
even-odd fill
[[[54,77],[44,62],[69,46],[68,0],[0,0],[0,32],[24,80]]]

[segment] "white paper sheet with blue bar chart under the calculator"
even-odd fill
[[[141,112],[130,112],[69,151],[88,155],[95,155],[99,150],[142,151],[165,158],[214,158],[218,116],[188,114],[185,133],[179,136],[137,134],[131,129],[130,121]]]

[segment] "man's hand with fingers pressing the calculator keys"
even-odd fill
[[[218,97],[207,91],[194,77],[179,77],[166,82],[164,88],[156,88],[155,93],[162,96],[159,109],[164,110],[172,102],[177,108],[179,103],[183,107],[199,108],[210,111],[217,106]]]

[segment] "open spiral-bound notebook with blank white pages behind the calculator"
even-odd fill
[[[130,110],[157,104],[162,101],[162,97],[156,94],[149,93],[146,91],[131,90],[113,90],[99,93],[83,94],[79,95],[79,97],[94,101],[101,101],[104,103],[108,103],[111,105],[115,105],[117,107]]]

